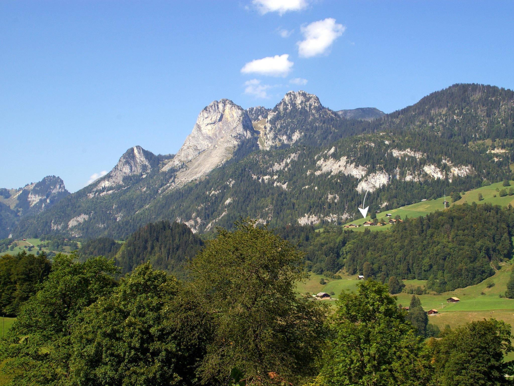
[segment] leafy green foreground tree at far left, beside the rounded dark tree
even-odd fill
[[[81,310],[112,291],[115,272],[114,262],[103,257],[83,263],[75,254],[53,258],[41,289],[0,341],[3,371],[13,376],[13,386],[67,384],[71,327]]]

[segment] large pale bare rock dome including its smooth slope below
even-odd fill
[[[162,171],[179,169],[171,185],[182,186],[225,163],[254,133],[243,108],[228,99],[215,100],[200,112],[193,131]]]

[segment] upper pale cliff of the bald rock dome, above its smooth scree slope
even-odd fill
[[[163,170],[181,167],[208,149],[234,150],[242,141],[253,136],[250,117],[240,106],[229,99],[213,101],[198,114],[193,131]],[[217,163],[226,161],[227,156],[218,156]]]

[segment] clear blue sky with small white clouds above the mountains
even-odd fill
[[[76,191],[134,145],[174,153],[220,98],[273,107],[305,90],[391,112],[457,82],[513,89],[513,14],[511,1],[3,0],[0,187],[55,174]]]

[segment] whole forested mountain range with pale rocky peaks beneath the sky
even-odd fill
[[[336,112],[304,91],[273,109],[213,101],[175,155],[134,146],[71,195],[55,177],[38,183],[44,191],[1,190],[0,236],[124,238],[163,219],[195,233],[246,216],[272,226],[342,223],[365,191],[370,210],[387,209],[510,176],[513,103],[511,90],[481,84],[455,84],[390,114]]]

